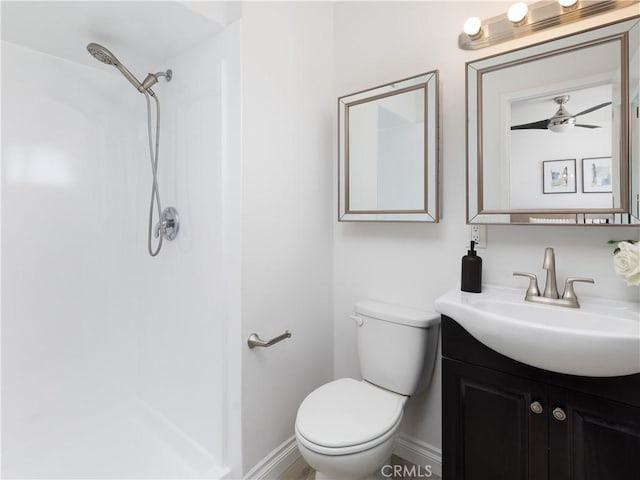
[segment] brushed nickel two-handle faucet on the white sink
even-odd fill
[[[593,278],[568,277],[562,298],[559,298],[556,283],[556,255],[551,247],[546,248],[544,251],[542,268],[547,271],[547,281],[542,295],[540,295],[540,290],[538,289],[538,278],[533,273],[513,272],[514,276],[529,278],[529,287],[524,299],[528,302],[558,305],[559,307],[580,308],[573,284],[575,282],[595,283]]]

